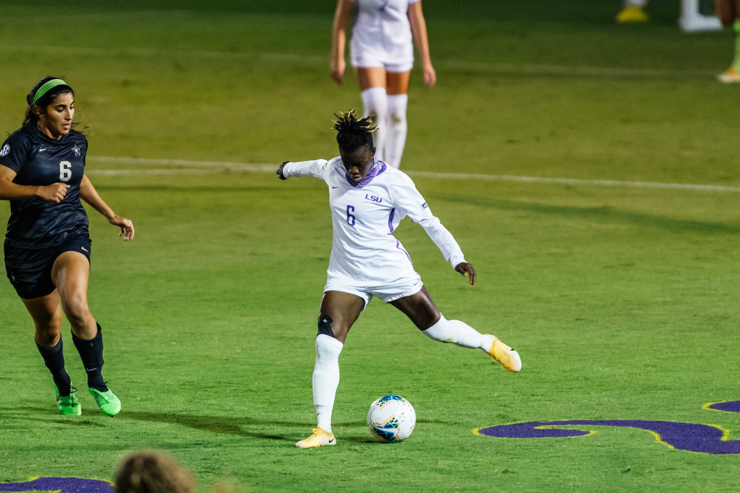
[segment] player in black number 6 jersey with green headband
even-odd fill
[[[59,412],[81,414],[64,369],[64,309],[90,395],[101,412],[113,416],[121,411],[121,401],[101,375],[103,339],[87,306],[91,246],[80,199],[121,228],[124,241],[134,238],[134,226],[108,207],[84,174],[87,138],[72,128],[72,88],[61,78],[45,77],[26,99],[23,126],[0,147],[0,200],[10,201],[4,245],[7,278],[36,324],[36,346],[52,374]]]

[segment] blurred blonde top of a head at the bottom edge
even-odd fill
[[[115,493],[196,493],[192,474],[162,452],[138,452],[115,476]]]

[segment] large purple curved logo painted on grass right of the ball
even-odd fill
[[[551,426],[553,428],[551,428]],[[491,426],[480,435],[499,438],[562,438],[593,435],[593,431],[562,429],[557,426],[621,426],[653,433],[659,443],[671,449],[704,454],[740,454],[740,440],[727,440],[729,431],[716,425],[652,420],[562,420],[529,421]]]

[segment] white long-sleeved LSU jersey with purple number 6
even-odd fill
[[[383,161],[376,159],[359,184],[351,181],[340,157],[288,163],[283,175],[321,178],[329,187],[334,229],[330,278],[388,284],[415,275],[411,257],[392,234],[406,215],[425,229],[453,268],[465,262],[457,241],[411,178]]]

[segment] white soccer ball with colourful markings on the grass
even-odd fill
[[[370,432],[384,442],[406,440],[416,426],[416,411],[400,395],[383,395],[370,405]]]

